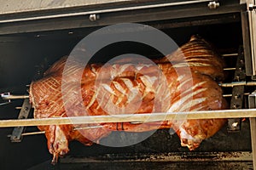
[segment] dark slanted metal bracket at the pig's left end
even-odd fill
[[[29,116],[29,112],[31,110],[31,105],[29,103],[29,99],[24,99],[22,108],[20,110],[20,115],[18,119],[26,119]],[[12,142],[20,142],[22,139],[22,133],[25,127],[15,127],[13,133],[10,136],[10,140]]]

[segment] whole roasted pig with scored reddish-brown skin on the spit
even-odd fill
[[[224,61],[212,46],[200,37],[162,59],[144,64],[136,59],[124,59],[113,64],[80,65],[74,61],[63,81],[67,58],[62,58],[30,86],[30,99],[35,118],[66,116],[99,116],[143,114],[151,112],[208,111],[227,109],[222,89],[216,81],[224,79]],[[81,82],[76,73],[82,72]],[[66,75],[67,76],[67,75]],[[63,94],[63,83],[68,93]],[[74,84],[79,83],[79,89]],[[81,91],[79,100],[77,91]],[[65,104],[65,106],[64,106]],[[177,115],[178,116],[178,115]],[[92,120],[93,122],[93,120]],[[68,142],[90,145],[112,131],[145,132],[158,128],[173,128],[183,146],[195,150],[203,139],[211,137],[224,125],[224,119],[170,120],[133,124],[92,123],[90,125],[39,126],[45,131],[49,152],[64,156]],[[76,127],[101,126],[75,130]]]

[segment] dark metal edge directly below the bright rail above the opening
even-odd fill
[[[124,22],[147,22],[153,20],[171,20],[198,16],[240,13],[245,10],[245,5],[237,3],[224,3],[216,9],[209,9],[207,3],[197,3],[166,8],[147,8],[131,11],[100,14],[100,19],[90,21],[89,15],[69,16],[55,19],[28,20],[14,23],[0,24],[0,35],[35,32],[55,31],[73,28],[108,26]]]

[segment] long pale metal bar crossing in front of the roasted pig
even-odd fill
[[[29,127],[60,124],[90,124],[104,122],[161,122],[167,120],[212,119],[256,117],[256,109],[189,111],[171,113],[125,114],[114,116],[71,116],[49,117],[37,119],[2,120],[0,127]]]

